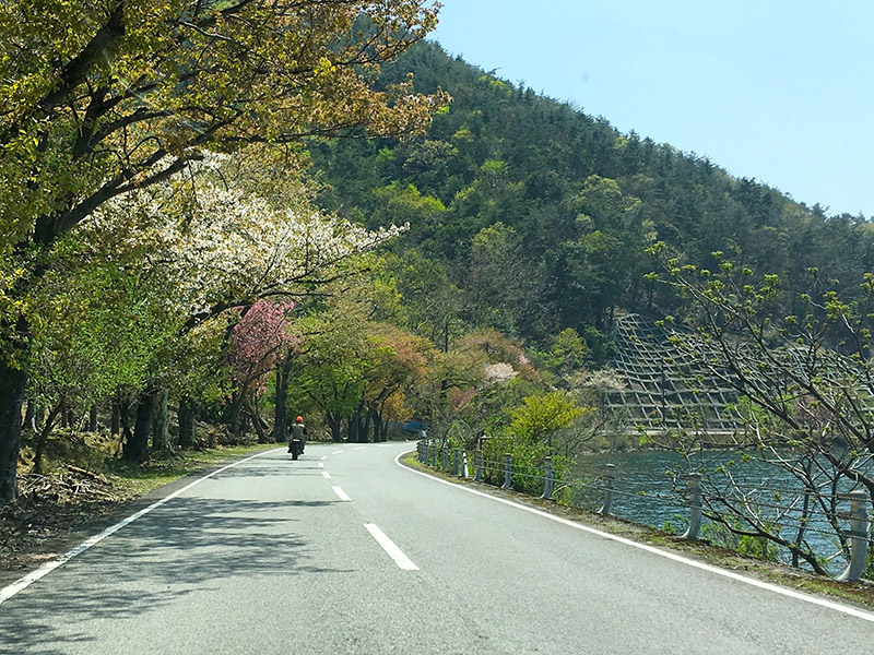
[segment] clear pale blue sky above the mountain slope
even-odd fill
[[[432,38],[469,63],[808,206],[874,217],[871,0],[441,4]]]

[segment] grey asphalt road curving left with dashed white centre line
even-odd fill
[[[874,647],[865,618],[430,479],[394,462],[412,448],[310,444],[223,471],[0,604],[0,653]]]

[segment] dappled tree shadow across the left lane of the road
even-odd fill
[[[349,573],[311,563],[294,529],[302,510],[335,502],[175,499],[0,606],[0,653],[68,653],[92,639],[81,621],[154,611],[226,579]]]

